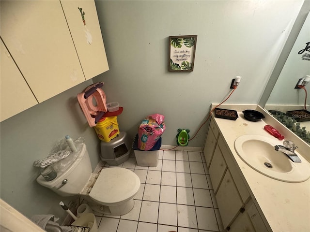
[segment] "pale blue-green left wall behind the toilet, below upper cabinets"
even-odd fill
[[[40,186],[36,177],[40,168],[33,161],[46,158],[53,145],[70,135],[83,137],[91,154],[93,169],[99,161],[99,144],[94,130],[88,126],[76,98],[92,84],[86,81],[39,105],[1,122],[0,196],[22,214],[53,214],[65,217],[58,204],[63,198]]]

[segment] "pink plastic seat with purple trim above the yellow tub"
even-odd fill
[[[78,94],[78,103],[90,127],[94,127],[102,116],[108,111],[106,94],[101,89],[103,82],[95,83]]]

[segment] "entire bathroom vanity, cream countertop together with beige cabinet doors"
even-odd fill
[[[212,108],[216,105],[213,104]],[[239,117],[237,120],[228,120],[212,115],[203,152],[225,230],[310,231],[309,145],[259,105],[223,104],[222,106],[224,109],[236,110]],[[246,109],[259,111],[265,118],[256,122],[248,121],[242,113]],[[302,167],[305,167],[294,172],[297,166],[295,163],[290,163],[293,172],[280,172],[277,169],[274,169],[274,172],[278,176],[290,175],[292,178],[298,173],[308,179],[282,181],[277,176],[270,177],[256,171],[240,157],[235,149],[235,141],[241,136],[258,135],[272,139],[276,145],[278,142],[279,145],[283,143],[265,131],[265,125],[276,128],[285,139],[294,141],[298,146],[296,152],[302,160]],[[262,162],[263,160],[261,165]]]

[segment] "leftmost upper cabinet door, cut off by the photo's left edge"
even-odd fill
[[[1,121],[14,116],[38,102],[19,72],[1,40]]]

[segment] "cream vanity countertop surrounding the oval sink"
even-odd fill
[[[228,105],[222,104],[224,109],[238,112],[237,120],[214,117],[217,127],[230,148],[235,163],[239,166],[251,197],[256,199],[260,211],[263,212],[273,232],[310,232],[310,179],[300,183],[288,183],[272,179],[252,169],[238,156],[234,149],[234,141],[245,134],[271,136],[263,130],[265,125],[276,128],[285,139],[294,141],[298,146],[296,151],[309,161],[310,149],[293,132],[286,129],[277,120],[257,105]],[[265,118],[258,122],[251,122],[244,118],[242,111],[246,109],[258,110]],[[279,145],[282,141],[279,141]],[[304,160],[307,162],[306,160]],[[309,162],[308,162],[309,164]],[[309,164],[310,169],[310,164]]]

